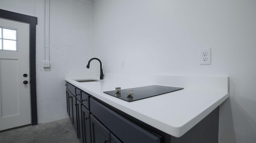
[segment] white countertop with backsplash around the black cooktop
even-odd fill
[[[174,137],[184,135],[229,97],[228,77],[150,76],[120,79],[110,77],[97,82],[77,82],[66,78],[66,81]],[[149,85],[184,89],[134,102],[103,93],[115,90],[115,87],[126,89]]]

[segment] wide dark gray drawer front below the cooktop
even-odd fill
[[[160,143],[161,137],[132,123],[90,98],[91,113],[124,143]]]

